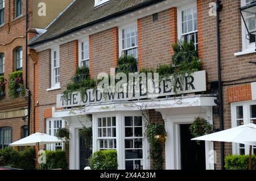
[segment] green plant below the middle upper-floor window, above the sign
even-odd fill
[[[137,71],[138,65],[136,58],[127,55],[118,58],[115,73],[125,73],[126,75],[128,75],[129,73],[134,73]]]

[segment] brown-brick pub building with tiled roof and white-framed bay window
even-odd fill
[[[195,43],[203,61],[204,71],[194,74],[198,87],[196,91],[184,92],[180,99],[164,96],[152,100],[154,106],[148,106],[148,119],[166,128],[165,169],[221,169],[220,143],[205,142],[199,150],[190,148],[188,131],[188,125],[198,116],[207,119],[214,129],[220,128],[219,116],[213,111],[218,93],[214,86],[218,81],[217,31],[216,16],[209,5],[214,2],[76,0],[30,44],[36,52],[35,131],[56,134],[57,129],[65,126],[71,131],[69,145],[48,145],[47,149],[65,147],[70,169],[83,169],[88,155],[99,149],[117,149],[118,169],[150,169],[143,115],[138,108],[125,106],[131,102],[113,99],[86,103],[85,108],[92,115],[92,123],[87,124],[88,117],[77,110],[85,105],[79,102],[78,95],[73,94],[70,103],[63,103],[61,94],[77,66],[87,66],[96,79],[98,73],[110,73],[122,54],[133,54],[138,58],[139,69],[156,68],[171,62],[171,44],[183,38]],[[239,12],[246,3],[250,1],[223,1],[220,11],[225,129],[256,120],[256,66],[249,64],[256,58],[255,37],[246,39]],[[92,148],[85,148],[84,140],[79,138],[80,122],[93,128]],[[209,162],[208,154],[213,149],[214,163]],[[244,145],[224,146],[225,155],[247,154],[248,150]]]

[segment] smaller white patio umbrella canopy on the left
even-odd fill
[[[63,141],[64,140],[61,140],[56,136],[51,136],[45,133],[34,133],[26,138],[13,142],[10,146],[35,146],[36,144],[39,146],[39,144],[56,144]]]

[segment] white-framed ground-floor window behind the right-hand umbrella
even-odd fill
[[[250,117],[250,106],[256,105],[256,100],[249,100],[245,102],[237,102],[237,103],[231,103],[231,120],[232,120],[232,128],[237,127],[237,107],[242,106],[243,107],[243,124],[250,124],[251,117]],[[255,146],[253,147],[256,148]],[[240,154],[239,151],[239,144],[232,143],[232,153],[233,154]],[[249,154],[249,145],[245,145],[245,155]]]

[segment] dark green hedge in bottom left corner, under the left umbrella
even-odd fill
[[[16,151],[11,147],[0,150],[0,166],[10,166],[16,169],[35,169],[35,150],[27,148]]]

